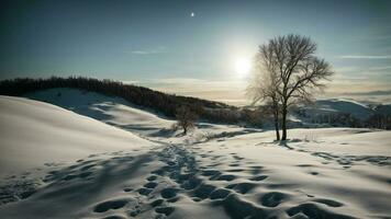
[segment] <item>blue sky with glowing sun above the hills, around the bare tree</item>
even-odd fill
[[[226,102],[235,61],[298,33],[337,72],[327,93],[391,90],[391,1],[2,1],[0,79],[87,76]],[[191,16],[194,13],[194,16]]]

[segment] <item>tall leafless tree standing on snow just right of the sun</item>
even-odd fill
[[[272,80],[266,78],[258,88],[277,95],[281,112],[281,140],[287,140],[289,107],[299,101],[311,101],[314,92],[323,91],[322,81],[334,74],[324,59],[315,56],[316,44],[300,35],[279,36],[261,45],[258,59]],[[271,97],[269,97],[271,99]]]

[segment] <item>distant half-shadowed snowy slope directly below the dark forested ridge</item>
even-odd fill
[[[121,97],[77,89],[43,90],[30,93],[26,97],[52,103],[107,124],[145,135],[170,128],[174,123],[139,110]]]

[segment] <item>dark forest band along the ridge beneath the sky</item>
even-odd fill
[[[110,96],[120,96],[130,103],[154,110],[169,118],[175,118],[177,108],[186,106],[203,120],[222,124],[244,123],[252,125],[254,123],[254,118],[249,116],[253,112],[243,112],[235,106],[197,97],[167,94],[113,80],[52,77],[47,79],[18,78],[0,81],[0,94],[2,95],[21,96],[29,92],[54,88],[72,88]]]

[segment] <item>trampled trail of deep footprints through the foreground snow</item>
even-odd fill
[[[196,153],[179,146],[168,146],[157,153],[165,165],[155,170],[145,178],[145,184],[139,188],[125,187],[124,192],[130,198],[107,200],[94,206],[94,212],[105,212],[120,208],[129,209],[127,216],[146,216],[148,218],[166,218],[175,212],[175,203],[189,197],[197,203],[208,199],[212,206],[222,206],[231,218],[278,218],[273,208],[292,198],[291,194],[282,192],[262,193],[258,197],[258,205],[247,201],[243,195],[259,186],[278,188],[284,185],[262,184],[268,175],[262,174],[262,166],[254,165],[250,161],[232,154],[233,162],[223,172],[217,170],[224,161],[231,159],[221,155],[199,154],[202,159],[210,159],[208,165],[201,165],[201,160],[196,160]],[[212,162],[211,162],[212,161]],[[246,166],[243,169],[243,166]],[[213,183],[217,182],[217,183]],[[223,185],[223,186],[222,186]],[[340,207],[343,204],[311,197],[310,201],[286,209],[289,217],[303,218],[350,218],[320,208],[317,204],[326,207]],[[123,216],[109,216],[109,218],[125,218]]]

